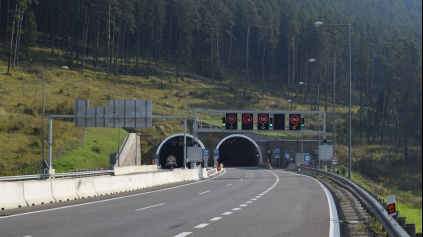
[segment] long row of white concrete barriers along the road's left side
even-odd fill
[[[14,182],[0,182],[0,210],[87,199],[207,178],[206,169],[186,169],[77,179],[14,179]]]

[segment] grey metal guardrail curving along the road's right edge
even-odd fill
[[[307,167],[300,167],[300,170],[308,171],[311,173],[319,174],[334,180],[344,188],[348,189],[350,192],[356,196],[362,205],[373,214],[379,222],[382,224],[384,230],[391,237],[410,237],[410,235],[398,224],[398,222],[391,216],[388,215],[388,212],[384,206],[380,203],[380,200],[377,200],[374,197],[374,194],[368,192],[364,188],[360,187],[358,184],[338,175],[335,175],[330,172],[321,171],[317,169],[311,169]]]

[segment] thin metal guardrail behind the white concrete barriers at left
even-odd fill
[[[24,181],[24,180],[45,180],[57,178],[84,178],[103,175],[112,175],[114,170],[103,171],[89,171],[89,172],[75,172],[75,173],[62,173],[62,174],[36,174],[36,175],[23,175],[23,176],[6,176],[0,177],[0,182],[10,181]]]

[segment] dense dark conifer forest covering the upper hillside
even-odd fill
[[[246,85],[260,78],[263,95],[276,81],[286,99],[312,109],[317,90],[299,82],[318,83],[326,111],[333,64],[309,59],[336,60],[337,104],[348,104],[350,24],[353,103],[360,108],[354,143],[400,147],[401,159],[421,172],[420,0],[3,0],[0,7],[9,71],[31,65],[32,48],[44,45],[52,55],[65,52],[72,69],[90,63],[107,78],[148,78],[172,62],[175,80],[182,69],[212,82],[238,72]]]

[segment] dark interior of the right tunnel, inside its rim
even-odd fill
[[[259,163],[255,144],[243,137],[228,138],[220,145],[219,152],[219,163],[225,167],[252,167]]]

